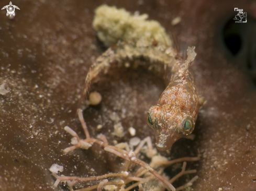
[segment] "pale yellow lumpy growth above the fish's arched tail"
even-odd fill
[[[123,8],[102,5],[95,10],[93,28],[106,46],[112,46],[119,40],[147,40],[171,46],[171,39],[160,23],[147,18],[147,14],[131,15]]]

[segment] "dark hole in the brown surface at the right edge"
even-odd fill
[[[245,21],[242,20],[242,21]],[[221,41],[232,55],[233,63],[240,65],[248,79],[256,85],[256,22],[247,15],[247,22],[236,22],[229,17],[222,28]]]

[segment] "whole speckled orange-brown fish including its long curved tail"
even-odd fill
[[[168,86],[162,93],[159,102],[148,110],[148,122],[154,129],[156,146],[166,150],[176,140],[191,134],[199,109],[195,82],[189,65],[195,58],[194,48],[188,48],[188,58],[183,61],[176,59],[172,47],[154,46],[151,43],[121,42],[110,47],[96,59],[85,79],[84,96],[90,89],[90,84],[97,82],[108,70],[124,66],[125,63],[138,64],[141,59],[143,67],[154,71],[158,76],[164,76]],[[165,75],[163,75],[165,74]],[[188,122],[186,122],[188,121]]]

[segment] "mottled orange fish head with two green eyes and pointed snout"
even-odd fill
[[[179,106],[153,105],[148,110],[148,124],[155,134],[155,146],[164,151],[182,137],[190,135],[195,128],[195,117]]]

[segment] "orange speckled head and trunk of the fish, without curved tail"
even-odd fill
[[[195,57],[194,48],[188,47],[188,56],[182,64],[177,60],[172,76],[161,94],[157,105],[148,110],[148,124],[154,129],[155,145],[160,151],[168,149],[182,137],[190,135],[194,128],[200,107],[190,63]],[[192,59],[193,58],[193,59]]]

